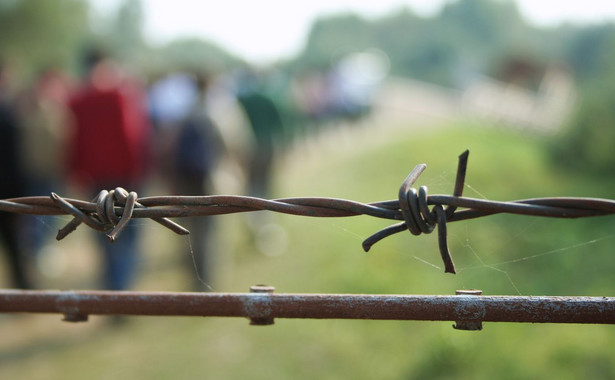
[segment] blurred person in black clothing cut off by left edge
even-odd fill
[[[0,199],[23,196],[24,181],[19,155],[20,134],[13,99],[8,89],[8,69],[0,62]],[[8,256],[12,285],[28,289],[28,261],[20,246],[19,217],[0,212],[0,237]]]

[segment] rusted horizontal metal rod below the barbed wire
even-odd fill
[[[615,324],[615,298],[0,290],[0,313]],[[482,325],[481,325],[482,327]],[[467,328],[466,328],[467,329]]]

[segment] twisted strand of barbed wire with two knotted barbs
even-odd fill
[[[531,198],[515,201],[492,201],[462,196],[469,151],[459,156],[455,188],[452,195],[428,195],[427,186],[412,186],[427,165],[417,165],[406,177],[397,200],[361,203],[337,198],[262,199],[237,195],[154,196],[138,198],[137,193],[118,187],[102,190],[92,201],[51,196],[21,197],[0,200],[0,211],[33,215],[72,215],[73,219],[58,231],[56,239],[68,236],[80,224],[104,232],[115,241],[132,218],[151,218],[181,235],[189,231],[168,218],[212,216],[267,210],[309,217],[350,217],[368,215],[398,220],[363,241],[367,252],[378,241],[408,230],[413,235],[429,234],[436,227],[438,246],[446,273],[455,273],[447,241],[447,223],[498,213],[581,218],[615,213],[615,200],[584,197]],[[429,208],[430,206],[431,209]],[[461,210],[458,210],[462,208]]]

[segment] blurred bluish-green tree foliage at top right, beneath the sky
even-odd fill
[[[319,19],[291,67],[322,68],[340,55],[377,48],[393,74],[456,85],[472,74],[493,74],[511,57],[566,62],[585,82],[608,56],[613,25],[537,28],[512,1],[448,2],[433,17],[401,8],[376,19],[341,14]]]

